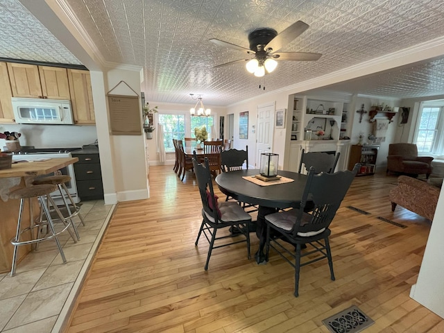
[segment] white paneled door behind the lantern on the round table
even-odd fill
[[[261,165],[261,153],[273,151],[273,136],[275,123],[275,103],[259,105],[257,107],[257,135],[256,135],[256,168]]]

